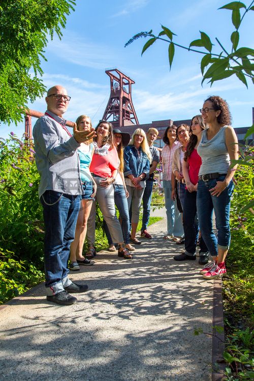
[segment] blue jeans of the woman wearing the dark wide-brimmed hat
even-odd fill
[[[122,228],[123,240],[125,244],[129,244],[130,243],[130,236],[129,236],[130,219],[129,219],[128,201],[126,198],[125,190],[123,185],[113,185],[113,186],[114,186],[115,205],[117,209],[119,210],[119,215],[122,220],[121,228]],[[112,238],[109,232],[108,225],[104,219],[103,219],[103,228],[105,230],[108,243],[109,245],[111,245],[113,243]]]

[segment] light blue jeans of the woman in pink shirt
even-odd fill
[[[165,207],[167,210],[168,235],[181,237],[183,235],[182,214],[179,213],[176,200],[171,198],[171,180],[163,180]]]

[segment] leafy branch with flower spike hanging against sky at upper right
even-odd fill
[[[152,30],[149,32],[141,32],[135,35],[131,40],[129,40],[125,47],[131,44],[133,41],[141,37],[150,37],[150,39],[145,43],[142,54],[157,40],[167,42],[169,44],[169,65],[170,69],[175,54],[175,47],[186,49],[188,51],[203,54],[201,60],[201,73],[203,76],[202,84],[207,79],[208,83],[213,84],[215,81],[219,81],[224,78],[228,78],[232,75],[236,75],[237,78],[248,87],[248,80],[254,83],[254,50],[247,47],[238,47],[239,44],[239,28],[246,14],[254,11],[254,1],[246,7],[245,4],[241,2],[232,2],[219,9],[228,9],[232,11],[232,23],[235,30],[231,34],[231,51],[229,52],[224,45],[215,38],[215,43],[211,42],[210,37],[200,30],[200,38],[190,42],[189,46],[183,46],[175,42],[175,36],[169,28],[162,25],[162,30],[155,36]],[[165,37],[162,37],[165,36]],[[194,49],[193,47],[204,48],[205,50]],[[218,48],[217,52],[214,52],[214,47]]]

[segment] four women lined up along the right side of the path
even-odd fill
[[[209,97],[200,112],[201,115],[192,118],[190,127],[171,125],[163,138],[168,227],[164,239],[184,243],[185,251],[174,256],[175,261],[195,260],[199,242],[199,264],[205,265],[200,274],[205,279],[213,279],[227,272],[232,179],[237,168],[231,162],[238,159],[238,142],[225,100]],[[213,213],[217,236],[212,224]]]

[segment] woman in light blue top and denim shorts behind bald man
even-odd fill
[[[77,120],[77,130],[91,130],[91,120],[87,115],[80,115]],[[83,192],[80,204],[80,210],[76,225],[76,232],[74,241],[71,243],[71,253],[70,253],[70,270],[79,270],[79,265],[90,266],[93,264],[92,261],[84,258],[82,255],[86,230],[87,230],[87,219],[90,214],[92,207],[92,202],[96,194],[97,185],[94,182],[89,165],[91,163],[91,158],[93,155],[93,145],[92,140],[88,140],[85,143],[81,143],[78,148],[79,160],[80,160],[80,174],[81,181],[83,185]]]

